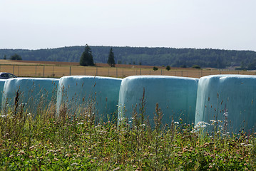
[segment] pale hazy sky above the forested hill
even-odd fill
[[[256,51],[256,0],[0,0],[0,48]]]

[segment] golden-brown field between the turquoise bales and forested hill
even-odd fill
[[[137,66],[117,64],[109,67],[106,63],[97,63],[96,66],[79,66],[79,63],[49,62],[49,61],[11,61],[0,60],[0,72],[14,73],[21,77],[61,77],[61,76],[111,76],[124,78],[126,76],[183,76],[200,78],[215,74],[243,74],[255,75],[255,71],[220,71],[217,69],[171,68],[158,66],[158,71],[153,71],[153,66]]]

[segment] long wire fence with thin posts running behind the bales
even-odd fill
[[[227,70],[195,70],[177,69],[167,71],[163,68],[153,71],[152,68],[114,68],[92,66],[50,66],[50,65],[0,65],[0,72],[13,73],[16,76],[29,77],[62,77],[62,76],[110,76],[124,78],[127,76],[183,76],[200,78],[217,74],[256,75],[255,71],[227,71]]]

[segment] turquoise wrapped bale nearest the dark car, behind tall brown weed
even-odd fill
[[[6,80],[2,95],[2,110],[24,104],[24,110],[36,115],[40,110],[55,110],[58,79],[11,78]],[[16,102],[15,102],[16,100]]]

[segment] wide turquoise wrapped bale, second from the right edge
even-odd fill
[[[197,88],[197,78],[174,76],[124,78],[119,93],[118,123],[124,118],[127,118],[129,123],[133,122],[136,111],[138,115],[144,113],[144,119],[148,118],[150,125],[153,126],[156,103],[163,113],[163,125],[166,123],[170,125],[172,120],[178,122],[179,118],[183,119],[183,123],[192,123],[195,120]],[[145,93],[144,97],[143,93]]]

